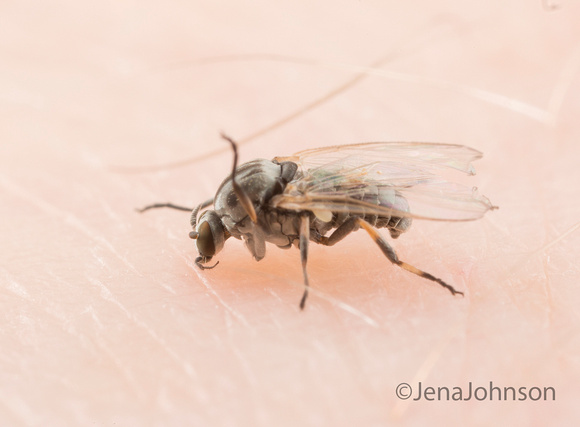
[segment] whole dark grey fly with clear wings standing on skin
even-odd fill
[[[441,173],[455,169],[469,175],[471,162],[482,154],[455,144],[371,142],[300,151],[273,160],[234,164],[216,195],[194,209],[156,203],[140,209],[173,208],[191,211],[189,237],[196,241],[201,269],[230,237],[243,240],[256,261],[266,255],[266,243],[300,249],[304,294],[308,297],[308,245],[333,246],[359,228],[364,229],[393,264],[433,281],[451,294],[463,295],[443,280],[401,261],[377,229],[397,238],[413,219],[471,221],[496,209],[475,187],[447,181]],[[207,209],[213,205],[214,209]],[[200,214],[201,212],[201,214]],[[329,235],[327,235],[330,233]]]

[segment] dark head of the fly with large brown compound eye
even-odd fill
[[[190,232],[189,237],[195,239],[199,252],[199,257],[196,258],[195,264],[202,270],[205,270],[214,268],[218,264],[215,263],[210,267],[204,265],[222,250],[229,234],[219,215],[215,211],[208,210],[201,214],[195,231]]]

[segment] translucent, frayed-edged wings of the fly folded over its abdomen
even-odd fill
[[[447,175],[454,170],[474,175],[471,162],[481,156],[469,147],[431,143],[366,143],[305,150],[275,159],[297,163],[300,172],[271,203],[317,213],[474,220],[494,206],[475,188],[454,183]],[[381,206],[368,201],[373,194],[380,194]]]

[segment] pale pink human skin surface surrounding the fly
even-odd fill
[[[5,2],[0,424],[578,420],[580,4],[557,6]],[[197,269],[187,213],[135,208],[212,197],[232,161],[220,131],[241,161],[365,141],[482,151],[463,181],[500,209],[392,241],[465,297],[364,231],[311,246],[303,312],[295,249],[257,263],[228,241]],[[490,381],[556,400],[413,400],[419,382]]]

